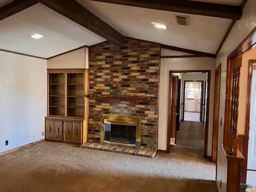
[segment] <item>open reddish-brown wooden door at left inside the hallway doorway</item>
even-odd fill
[[[173,76],[172,80],[172,135],[171,138],[176,136],[176,116],[177,114],[177,98],[178,98],[178,76]]]

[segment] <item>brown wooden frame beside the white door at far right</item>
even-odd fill
[[[244,130],[244,162],[242,165],[242,182],[246,183],[247,179],[247,163],[248,163],[248,146],[249,146],[249,130],[250,130],[250,108],[251,108],[251,88],[252,88],[252,72],[253,64],[256,64],[256,60],[249,60],[248,66],[248,85],[246,96],[246,120]]]

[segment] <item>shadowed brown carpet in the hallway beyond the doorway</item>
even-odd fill
[[[176,132],[176,145],[204,149],[204,122],[181,121]]]

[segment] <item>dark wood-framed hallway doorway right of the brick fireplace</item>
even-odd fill
[[[190,76],[190,78],[183,78],[183,74]],[[191,76],[196,76],[201,74],[204,75],[205,79],[194,79]],[[184,118],[185,111],[185,92],[186,92],[186,82],[197,83],[197,90],[194,91],[192,96],[194,99],[195,112],[199,113],[197,121],[187,121]],[[180,86],[181,84],[181,86]],[[188,84],[188,87],[190,84]],[[193,85],[192,85],[193,86]],[[182,88],[180,88],[182,87]],[[196,94],[196,95],[195,95]],[[207,146],[208,146],[208,113],[209,113],[209,98],[210,98],[210,70],[184,70],[184,71],[170,71],[169,76],[169,94],[168,94],[168,130],[167,130],[167,152],[170,150],[170,144],[177,144],[179,140],[179,135],[185,136],[182,146],[192,148],[200,148],[203,150],[204,158],[207,158]],[[197,101],[197,104],[196,102]],[[180,105],[180,106],[179,106]],[[194,123],[194,124],[193,124]],[[197,140],[197,134],[195,130],[191,130],[192,127],[197,127],[200,134],[200,142]],[[187,131],[186,131],[187,130]],[[182,133],[183,132],[183,133]],[[178,136],[178,138],[177,138]],[[188,138],[188,140],[186,140]],[[194,141],[191,138],[195,138]],[[196,146],[193,146],[196,143]],[[198,147],[198,143],[200,146]],[[178,142],[180,145],[180,142]]]

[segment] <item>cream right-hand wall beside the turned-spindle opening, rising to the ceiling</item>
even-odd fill
[[[226,94],[226,68],[227,57],[232,51],[246,38],[248,34],[256,27],[256,1],[248,0],[243,10],[243,15],[240,20],[237,20],[228,37],[226,38],[220,52],[216,58],[216,67],[221,66],[221,81],[220,81],[220,108],[219,118],[224,119],[225,114],[225,94]],[[245,90],[246,91],[246,90]],[[223,122],[224,124],[224,122]],[[226,192],[227,181],[227,160],[222,150],[223,143],[223,126],[218,125],[218,159],[217,159],[217,183],[220,192]],[[220,180],[222,180],[222,188],[220,188]]]

